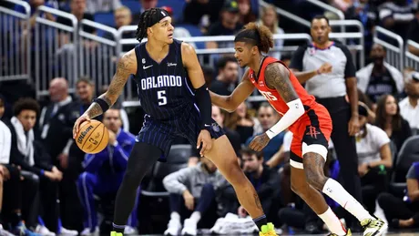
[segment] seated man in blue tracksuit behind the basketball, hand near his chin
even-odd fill
[[[109,131],[107,148],[97,154],[87,154],[83,161],[85,171],[77,180],[77,191],[85,211],[85,230],[81,232],[82,236],[98,233],[94,195],[99,198],[117,195],[127,169],[129,153],[135,144],[135,137],[121,129],[122,121],[118,109],[109,108],[103,115],[103,124]],[[125,234],[135,233],[136,227],[137,206],[131,213]]]

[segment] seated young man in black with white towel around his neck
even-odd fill
[[[42,218],[46,222],[45,230],[77,235],[77,231],[68,231],[64,227],[58,227],[57,182],[62,180],[63,174],[56,166],[50,164],[51,158],[42,144],[35,139],[33,128],[36,124],[36,116],[39,114],[38,103],[32,98],[21,98],[15,103],[14,114],[15,116],[9,123],[12,133],[11,163],[20,166],[30,178],[39,180],[37,191],[41,194]]]

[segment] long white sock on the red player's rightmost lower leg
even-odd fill
[[[322,191],[332,200],[339,203],[342,208],[353,214],[358,221],[373,218],[370,213],[363,208],[363,205],[361,205],[358,200],[355,200],[351,194],[343,189],[342,185],[336,180],[329,178],[329,180],[327,180],[324,184]]]

